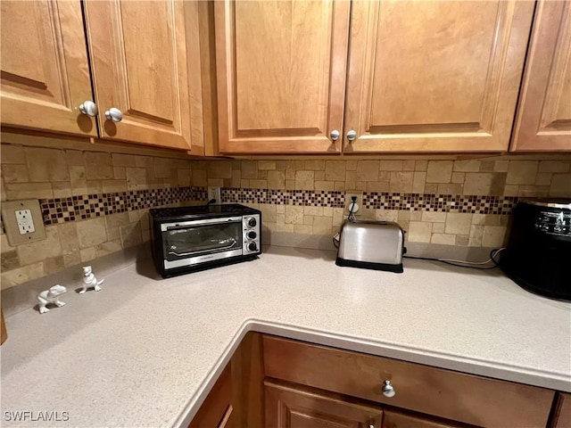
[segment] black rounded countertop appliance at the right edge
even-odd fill
[[[517,202],[500,268],[525,290],[571,300],[571,199]]]

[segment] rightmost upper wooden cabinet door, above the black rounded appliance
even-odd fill
[[[571,151],[571,3],[537,4],[512,151]]]

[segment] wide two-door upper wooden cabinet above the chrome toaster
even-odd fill
[[[337,152],[343,140],[344,152],[506,151],[533,11],[504,0],[217,3],[219,150]]]

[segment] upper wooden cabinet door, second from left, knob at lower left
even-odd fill
[[[85,2],[102,138],[191,148],[191,124],[202,129],[202,113],[191,109],[187,70],[187,54],[200,63],[196,40],[186,48],[185,21],[195,10],[195,2],[175,0]],[[194,107],[202,103],[200,91],[192,96]],[[111,108],[122,112],[120,122],[105,118]]]

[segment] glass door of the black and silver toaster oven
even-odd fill
[[[242,251],[242,221],[172,226],[162,233],[168,261],[226,251]]]

